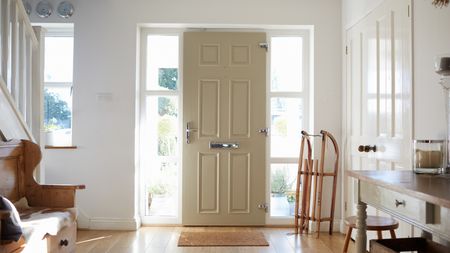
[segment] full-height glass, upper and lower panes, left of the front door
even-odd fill
[[[144,36],[140,178],[143,223],[179,222],[180,82],[178,35]]]

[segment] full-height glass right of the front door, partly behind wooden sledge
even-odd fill
[[[297,161],[308,109],[304,43],[297,35],[270,37],[269,220],[275,218],[274,224],[292,221],[294,215]]]

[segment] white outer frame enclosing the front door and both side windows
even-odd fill
[[[208,30],[211,32],[265,32],[267,34],[267,39],[269,36],[295,36],[300,35],[304,38],[303,46],[304,52],[307,52],[306,58],[303,64],[303,83],[306,89],[303,93],[307,94],[304,98],[305,104],[307,104],[307,110],[304,110],[304,119],[307,119],[306,125],[307,130],[314,129],[314,26],[312,25],[240,25],[240,24],[140,24],[137,26],[137,47],[136,47],[136,117],[135,117],[135,210],[136,217],[140,218],[140,221],[144,225],[150,224],[166,224],[166,225],[179,225],[182,224],[182,177],[183,177],[183,150],[182,142],[180,141],[180,166],[179,166],[179,176],[178,176],[178,216],[174,218],[153,218],[149,219],[145,217],[145,201],[146,197],[144,193],[144,183],[141,179],[141,161],[140,157],[142,155],[142,148],[140,143],[140,138],[142,136],[141,124],[145,122],[145,116],[141,112],[145,112],[144,98],[149,93],[154,93],[155,95],[164,95],[164,92],[148,92],[145,91],[145,67],[146,67],[146,47],[145,36],[149,34],[155,35],[177,35],[179,36],[179,134],[184,134],[183,131],[183,32],[185,31],[196,31],[196,30]],[[305,46],[306,50],[305,50]],[[266,71],[266,112],[270,112],[270,55],[267,56],[267,71]],[[305,69],[306,68],[306,69]],[[290,97],[294,97],[290,95]],[[269,115],[266,113],[266,124],[270,126]],[[306,122],[306,120],[304,120]],[[266,201],[270,203],[270,162],[269,162],[269,151],[270,142],[266,145]],[[283,159],[283,158],[282,158]],[[277,161],[282,161],[277,159]],[[288,158],[289,163],[297,163],[297,158]],[[148,217],[148,216],[147,216]],[[270,217],[270,212],[266,213],[265,224],[267,225],[283,225],[283,224],[293,224],[294,220],[292,217]]]

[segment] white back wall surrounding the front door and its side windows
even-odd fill
[[[37,0],[32,1],[33,7]],[[51,0],[56,5],[60,0]],[[47,150],[47,183],[83,183],[81,223],[133,228],[135,208],[136,34],[141,23],[314,25],[316,131],[340,141],[341,4],[336,0],[77,0],[75,14],[33,22],[73,22],[73,142],[78,149]],[[99,101],[97,93],[111,93]],[[338,196],[339,197],[339,196]],[[340,217],[339,205],[336,207]]]

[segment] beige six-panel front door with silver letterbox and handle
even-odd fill
[[[265,33],[184,33],[184,225],[265,222],[265,41]]]

